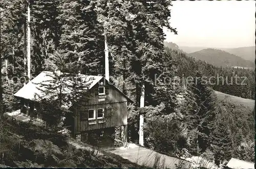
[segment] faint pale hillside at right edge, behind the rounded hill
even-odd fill
[[[238,47],[238,48],[223,48],[221,49],[223,51],[226,51],[230,54],[237,55],[245,60],[249,60],[251,62],[255,61],[255,46],[249,46],[249,47]]]

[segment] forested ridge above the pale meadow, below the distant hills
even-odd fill
[[[168,51],[173,50],[171,53],[175,63],[177,63],[177,75],[179,77],[196,77],[196,71],[199,70],[202,76],[207,77],[208,82],[210,80],[210,85],[214,90],[245,99],[255,99],[254,69],[214,66],[205,61],[189,57],[175,43],[169,42],[167,45],[169,46],[167,47]],[[210,77],[212,78],[209,79]]]

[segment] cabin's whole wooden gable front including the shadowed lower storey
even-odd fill
[[[99,94],[99,87],[104,87],[104,94]],[[104,78],[86,95],[87,99],[81,99],[70,108],[74,113],[71,131],[74,136],[80,135],[81,141],[89,143],[96,134],[101,148],[113,148],[114,127],[127,125],[127,102],[132,101],[115,86],[104,82]],[[103,110],[103,118],[98,118],[98,109]],[[89,119],[89,110],[95,110],[95,119]]]

